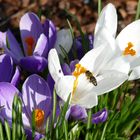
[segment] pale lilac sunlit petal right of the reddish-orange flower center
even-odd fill
[[[41,34],[38,38],[36,47],[34,49],[33,55],[37,56],[47,56],[48,53],[48,40],[45,34]]]

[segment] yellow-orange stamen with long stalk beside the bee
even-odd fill
[[[85,73],[87,70],[86,68],[82,67],[81,64],[76,64],[75,65],[75,70],[72,73],[73,76],[75,76],[75,80],[73,83],[73,91],[72,91],[72,96],[74,95],[77,85],[78,85],[78,77],[80,76],[80,74]]]

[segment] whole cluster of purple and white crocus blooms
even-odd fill
[[[98,104],[99,95],[118,88],[126,80],[140,77],[139,26],[140,21],[137,20],[115,38],[116,9],[108,4],[97,21],[94,41],[92,35],[86,36],[89,51],[84,54],[81,51],[81,38],[75,39],[73,43],[70,30],[56,31],[52,21],[46,20],[42,24],[35,14],[25,14],[20,20],[22,45],[10,30],[0,32],[0,119],[6,119],[11,126],[12,101],[18,95],[22,100],[24,128],[28,133],[31,132],[32,113],[35,112],[36,137],[39,139],[45,134],[47,118],[52,115],[55,89],[61,102],[66,102],[70,95],[66,119],[86,122],[86,109]],[[68,53],[72,43],[77,46],[80,60],[61,65],[59,56],[65,57],[63,51]],[[47,66],[49,73],[45,80],[46,75],[41,72]],[[18,83],[20,76],[25,76],[20,74],[23,70],[29,74],[41,73],[42,77],[37,74],[26,77],[20,90]],[[107,115],[106,109],[93,114],[92,123],[104,122]]]

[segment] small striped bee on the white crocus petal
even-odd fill
[[[90,83],[92,83],[94,86],[97,86],[97,80],[89,70],[85,72],[85,75]]]

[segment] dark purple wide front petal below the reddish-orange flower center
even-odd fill
[[[47,60],[40,56],[27,56],[20,60],[20,65],[32,73],[42,72],[47,66]]]

